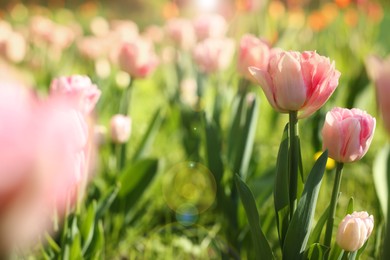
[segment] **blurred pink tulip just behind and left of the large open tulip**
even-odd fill
[[[237,70],[245,78],[253,80],[248,67],[267,70],[270,56],[270,48],[265,42],[254,35],[246,34],[240,41]]]

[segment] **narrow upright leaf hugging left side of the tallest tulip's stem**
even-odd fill
[[[288,124],[284,127],[276,161],[274,204],[279,241],[283,248],[289,225]]]

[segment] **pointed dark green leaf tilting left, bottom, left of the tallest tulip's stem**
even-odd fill
[[[248,218],[256,259],[274,259],[271,247],[260,227],[259,213],[252,192],[237,174],[235,175],[235,182]]]

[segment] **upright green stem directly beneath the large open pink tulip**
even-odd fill
[[[294,215],[297,207],[297,190],[298,190],[298,112],[289,113],[289,198],[290,198],[290,219]]]

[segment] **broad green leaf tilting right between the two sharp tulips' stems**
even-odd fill
[[[305,251],[327,160],[328,152],[325,151],[318,158],[307,178],[297,210],[287,230],[283,245],[283,259],[300,259]]]

